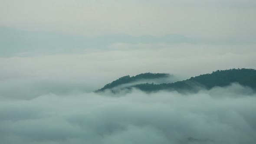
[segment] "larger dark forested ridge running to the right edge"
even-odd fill
[[[121,81],[127,78],[120,78],[117,81],[119,83],[122,83]],[[136,85],[131,85],[128,87],[125,87],[126,89],[131,88],[138,88],[145,92],[154,92],[159,90],[176,90],[178,92],[181,91],[197,91],[198,87],[211,89],[215,86],[228,86],[232,83],[239,83],[240,85],[249,86],[253,89],[256,89],[256,69],[229,69],[229,70],[217,70],[215,72],[212,72],[211,74],[204,74],[199,75],[196,77],[191,77],[190,79],[174,82],[174,83],[161,83],[161,84],[154,84],[154,83],[141,83]],[[118,83],[115,83],[115,86],[118,85]],[[104,88],[99,89],[98,92],[103,91],[105,89],[111,89],[113,87],[110,87],[108,85],[105,85]],[[124,88],[122,88],[124,89]],[[121,89],[120,89],[121,90]],[[116,92],[112,90],[112,92]]]

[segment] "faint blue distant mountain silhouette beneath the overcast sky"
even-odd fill
[[[182,35],[131,36],[109,34],[103,36],[70,35],[64,33],[27,31],[0,26],[0,57],[33,54],[52,55],[56,53],[84,52],[85,49],[108,49],[122,44],[182,44],[210,43]]]

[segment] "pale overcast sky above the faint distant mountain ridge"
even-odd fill
[[[255,0],[0,0],[0,25],[87,36],[255,39]]]

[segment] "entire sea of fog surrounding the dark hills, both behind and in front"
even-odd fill
[[[164,82],[175,82],[255,68],[253,46],[126,46],[1,57],[0,143],[255,144],[256,93],[237,83],[194,94],[93,92],[144,72],[170,73],[175,79]]]

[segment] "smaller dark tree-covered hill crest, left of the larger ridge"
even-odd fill
[[[122,84],[136,82],[136,81],[143,80],[143,79],[160,79],[160,78],[167,78],[169,76],[171,76],[171,75],[166,74],[166,73],[150,73],[150,72],[142,73],[142,74],[135,75],[135,76],[126,75],[126,76],[123,76],[111,83],[108,83],[103,88],[98,89],[97,92],[104,91],[105,89],[111,89],[111,88],[114,88],[114,87],[122,85]]]

